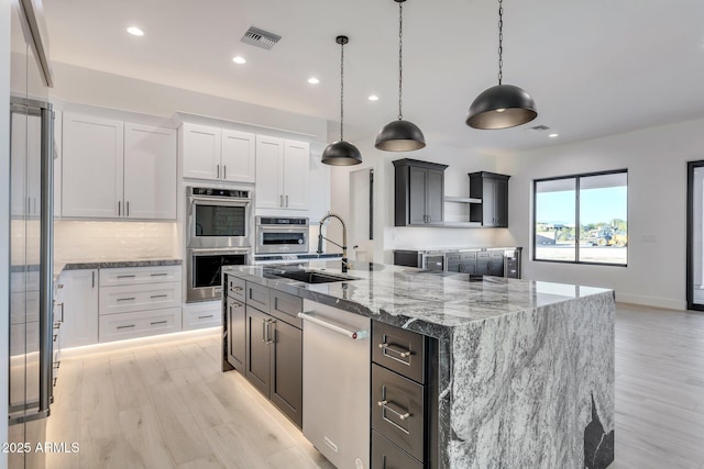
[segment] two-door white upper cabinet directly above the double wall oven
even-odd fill
[[[180,137],[185,178],[254,182],[254,134],[186,123]]]

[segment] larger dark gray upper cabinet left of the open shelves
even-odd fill
[[[395,168],[395,226],[442,224],[444,170],[448,165],[397,159]]]

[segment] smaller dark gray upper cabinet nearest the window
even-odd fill
[[[508,227],[508,178],[496,172],[470,172],[470,198],[482,200],[470,204],[470,222]]]

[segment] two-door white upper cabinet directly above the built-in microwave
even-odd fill
[[[256,136],[257,209],[307,211],[309,179],[308,143]]]

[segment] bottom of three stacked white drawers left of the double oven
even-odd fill
[[[99,319],[99,342],[180,331],[180,308],[110,314]]]

